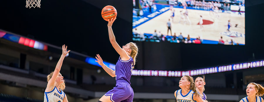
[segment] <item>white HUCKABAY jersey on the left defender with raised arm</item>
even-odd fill
[[[44,92],[44,102],[62,102],[65,97],[65,93],[63,91],[59,91],[57,87],[51,92]]]

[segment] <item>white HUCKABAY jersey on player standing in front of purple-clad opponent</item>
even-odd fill
[[[185,96],[182,95],[182,89],[177,90],[176,92],[176,102],[196,102],[193,100],[194,92],[190,90]]]

